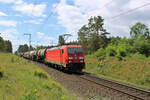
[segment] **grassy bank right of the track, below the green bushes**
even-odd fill
[[[107,57],[102,62],[87,56],[85,72],[150,89],[150,59]]]

